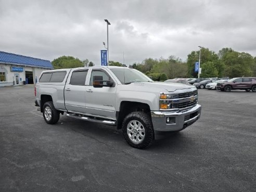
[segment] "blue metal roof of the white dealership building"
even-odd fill
[[[23,55],[16,55],[11,53],[1,52],[1,51],[0,51],[0,63],[53,69],[52,63],[48,60],[27,57]]]

